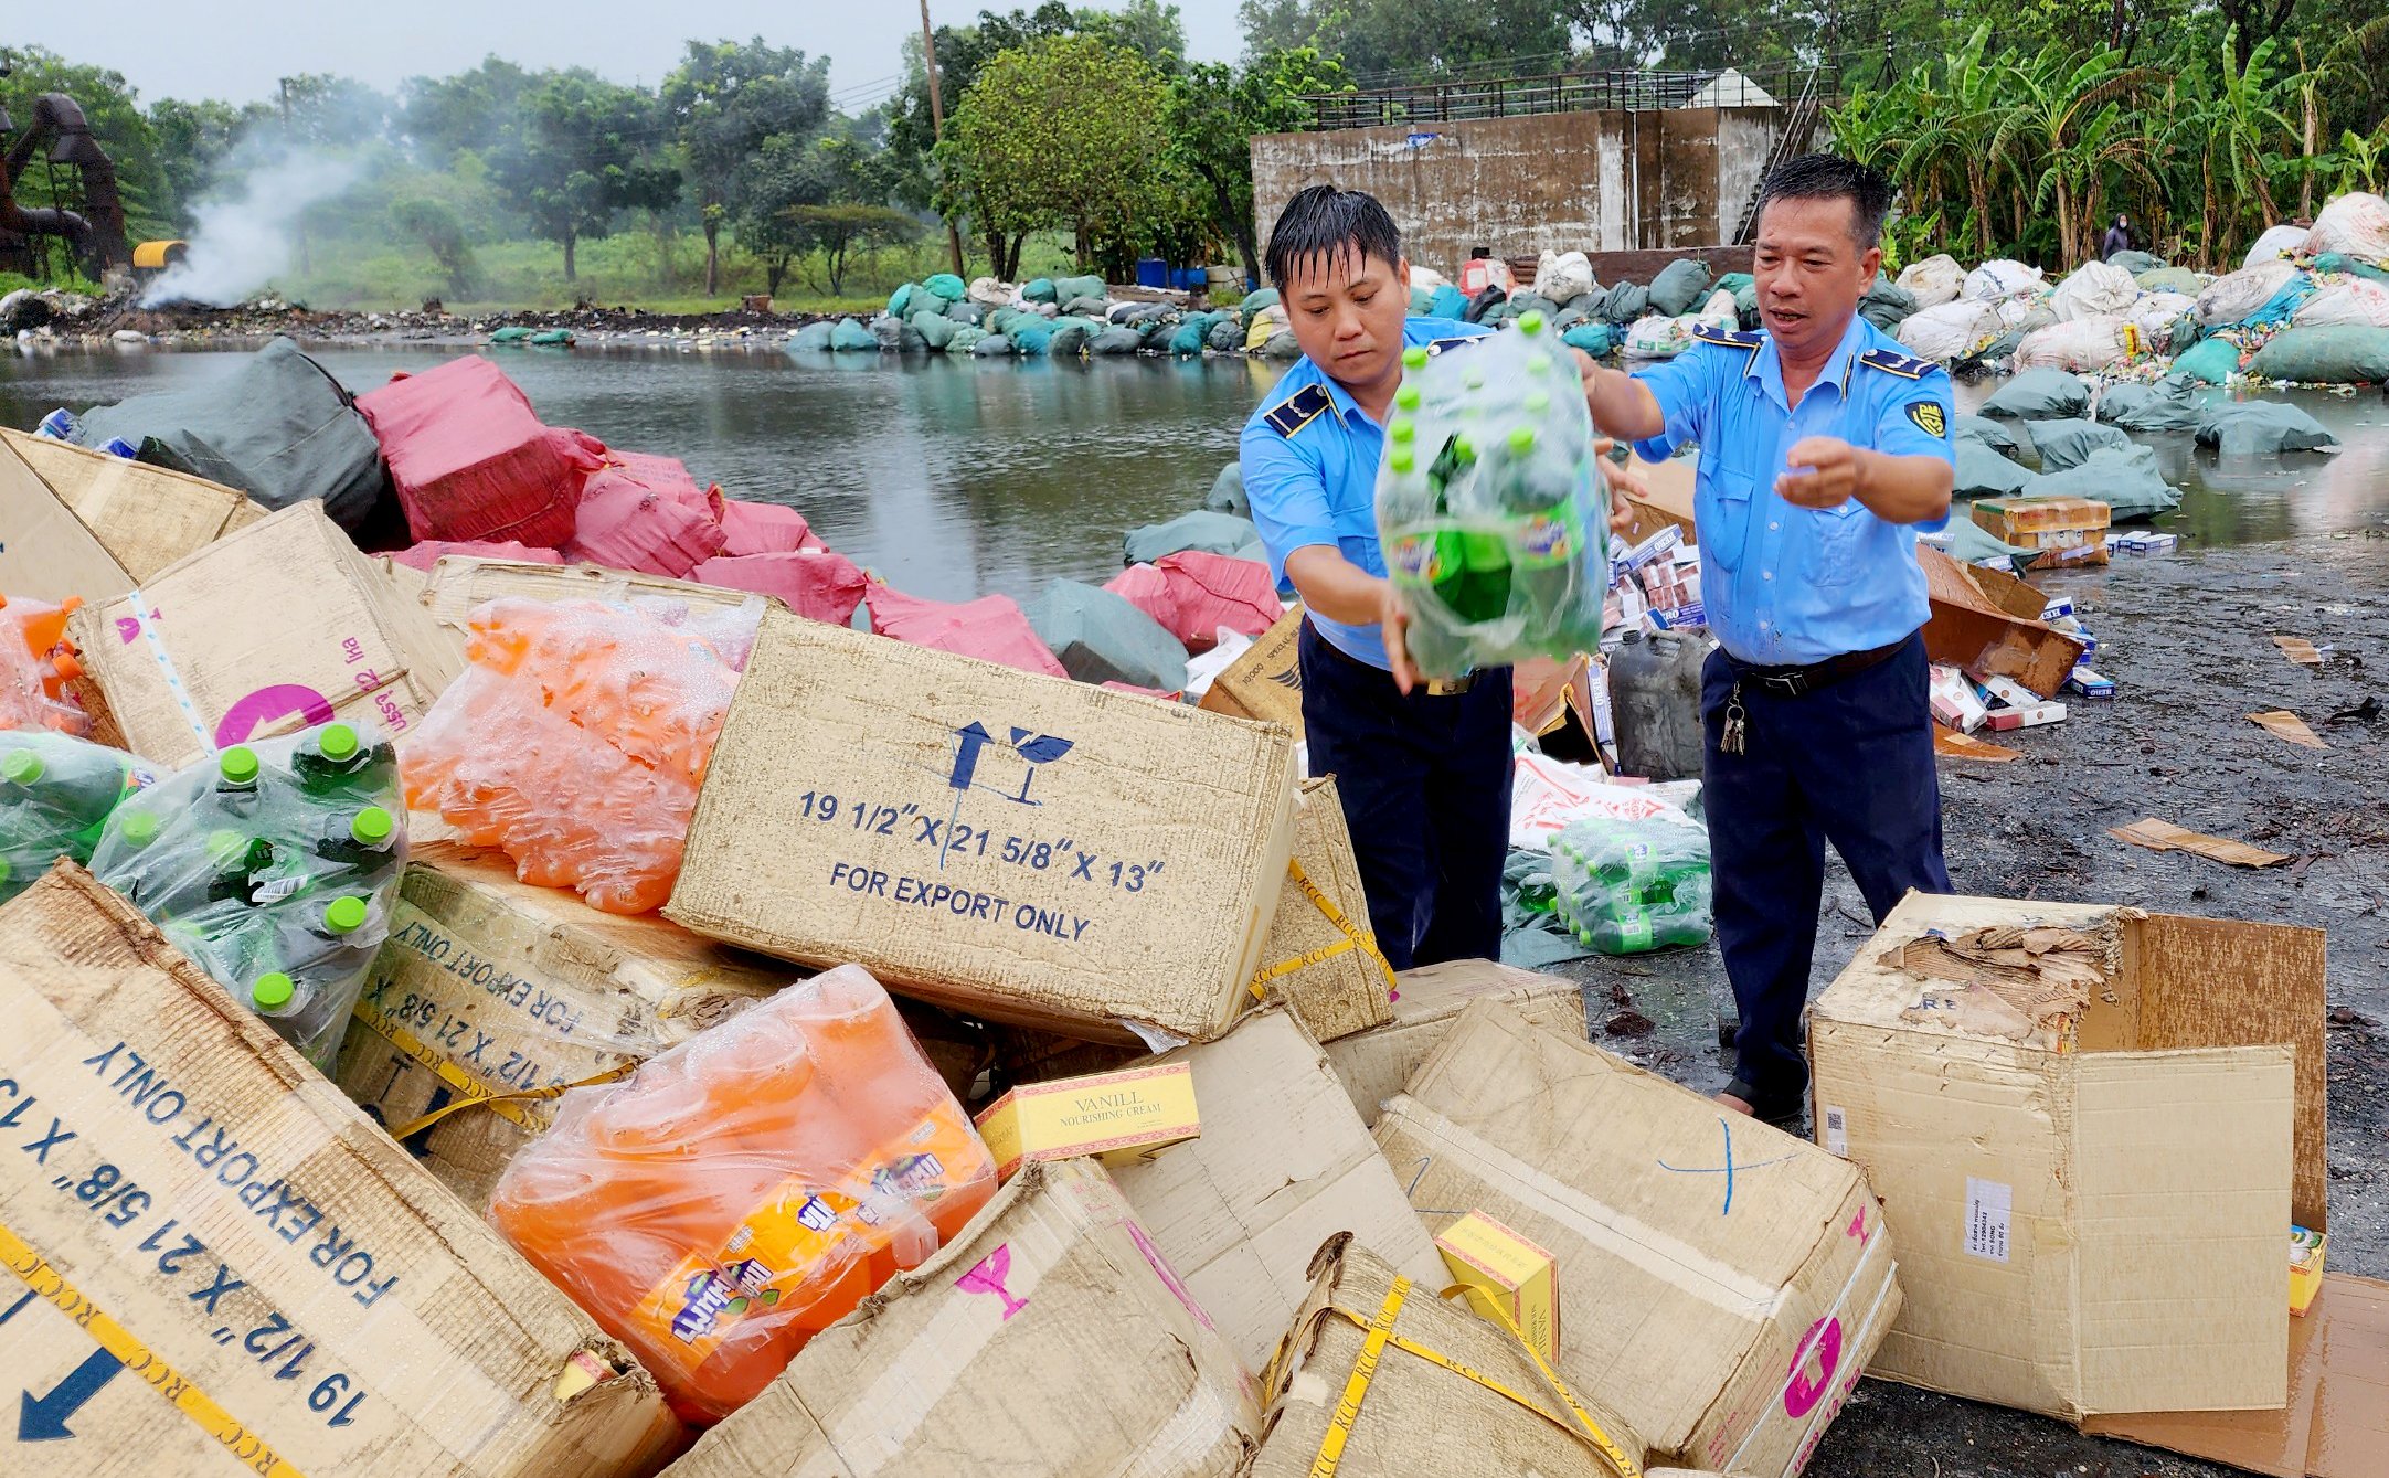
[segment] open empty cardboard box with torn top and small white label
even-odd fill
[[[2279,1406],[2322,1017],[2320,929],[1911,893],[1808,1008],[1818,1134],[1899,1239],[1873,1373],[2069,1421]]]

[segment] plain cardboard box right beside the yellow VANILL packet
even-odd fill
[[[1443,1287],[1443,1261],[1393,1165],[1283,1005],[1159,1060],[1194,1070],[1202,1139],[1113,1177],[1238,1359],[1254,1371],[1269,1361],[1309,1297],[1312,1254],[1335,1232]]]

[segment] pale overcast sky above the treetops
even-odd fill
[[[929,19],[965,24],[987,5],[929,0]],[[1073,5],[1116,10],[1116,0]],[[1235,0],[1178,0],[1187,53],[1226,62],[1242,48]],[[265,100],[275,79],[334,72],[394,91],[409,76],[463,72],[497,53],[523,67],[588,67],[655,86],[690,36],[762,36],[829,55],[841,107],[896,86],[898,45],[920,31],[920,0],[115,0],[98,10],[10,2],[0,45],[45,45],[74,62],[122,72],[143,103],[158,98]],[[702,19],[700,19],[702,17]]]

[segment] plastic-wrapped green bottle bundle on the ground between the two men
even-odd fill
[[[1560,922],[1603,955],[1708,938],[1708,831],[1584,817],[1550,838]]]

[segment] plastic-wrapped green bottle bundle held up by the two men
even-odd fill
[[[1524,313],[1515,334],[1407,349],[1402,368],[1376,525],[1412,661],[1457,678],[1596,652],[1608,494],[1567,346]]]

